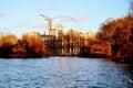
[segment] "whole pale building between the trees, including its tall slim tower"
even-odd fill
[[[52,28],[52,19],[45,18],[45,20],[48,21],[49,34],[43,34],[41,36],[45,46],[51,50],[53,55],[79,55],[82,45],[84,45],[84,43],[88,44],[90,33],[81,33],[73,30],[66,33],[62,24]]]

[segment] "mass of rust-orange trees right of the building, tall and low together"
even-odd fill
[[[116,20],[110,19],[102,24],[96,37],[83,45],[81,56],[133,58],[133,15]]]

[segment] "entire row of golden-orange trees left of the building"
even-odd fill
[[[0,57],[2,58],[37,58],[51,56],[38,33],[27,33],[21,38],[13,34],[0,37]]]

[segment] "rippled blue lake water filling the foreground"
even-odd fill
[[[0,59],[0,88],[133,88],[133,66],[106,59]]]

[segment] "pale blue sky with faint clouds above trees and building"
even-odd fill
[[[52,28],[98,32],[108,19],[125,16],[127,10],[129,0],[0,0],[0,34],[48,32],[40,14],[52,18]]]

